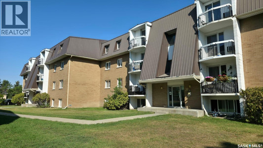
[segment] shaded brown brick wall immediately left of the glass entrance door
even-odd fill
[[[167,107],[168,106],[167,102],[168,102],[167,83],[152,84],[152,106]]]

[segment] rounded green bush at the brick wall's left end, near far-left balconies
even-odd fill
[[[47,108],[49,107],[50,96],[47,93],[41,93],[34,96],[32,100],[37,104],[38,107]]]

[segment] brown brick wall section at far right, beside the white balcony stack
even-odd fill
[[[245,86],[263,86],[263,14],[240,20]]]

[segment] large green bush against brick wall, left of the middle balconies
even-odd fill
[[[119,85],[120,86],[120,85]],[[125,110],[128,109],[129,97],[128,93],[122,91],[122,87],[116,86],[114,88],[113,95],[108,95],[108,98],[104,98],[105,102],[103,107],[108,110]]]

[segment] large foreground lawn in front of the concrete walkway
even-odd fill
[[[2,148],[237,148],[263,144],[263,126],[166,114],[80,125],[0,115]]]

